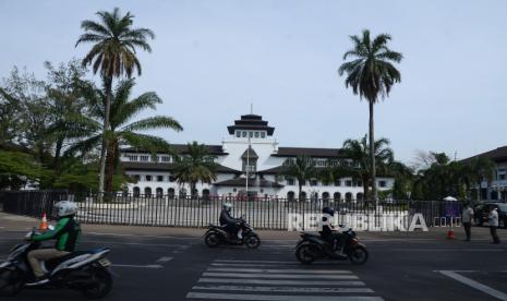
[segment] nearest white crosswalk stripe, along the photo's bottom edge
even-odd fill
[[[189,292],[186,298],[212,299],[212,300],[258,300],[258,301],[382,301],[381,297],[362,297],[362,296],[281,296],[281,294],[240,294],[240,293],[208,293],[208,292]]]

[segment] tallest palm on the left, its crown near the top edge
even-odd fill
[[[89,52],[83,59],[83,65],[92,65],[93,72],[100,73],[106,92],[105,119],[102,125],[102,142],[100,150],[99,195],[104,192],[104,179],[106,174],[106,149],[109,148],[107,131],[110,131],[109,118],[112,99],[112,80],[125,74],[129,79],[135,70],[141,75],[141,63],[136,57],[136,49],[141,48],[152,52],[147,43],[148,38],[155,38],[155,34],[147,28],[132,28],[134,15],[128,12],[120,14],[114,8],[112,13],[99,11],[96,13],[99,22],[85,20],[81,22],[81,28],[85,31],[80,36],[75,46],[81,43],[93,43]]]

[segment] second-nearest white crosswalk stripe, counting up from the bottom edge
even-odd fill
[[[369,288],[310,288],[310,287],[251,287],[251,286],[194,286],[197,290],[237,290],[237,291],[269,291],[269,292],[292,292],[292,293],[351,293],[351,292],[375,292]]]

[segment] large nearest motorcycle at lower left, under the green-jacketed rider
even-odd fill
[[[27,242],[12,248],[7,261],[0,264],[0,296],[12,297],[24,288],[70,288],[80,291],[86,299],[99,299],[109,293],[112,277],[108,268],[111,263],[106,258],[110,252],[107,248],[73,252],[41,262],[48,281],[32,285],[35,276],[27,254],[41,245],[40,242],[31,241],[34,234],[35,229],[26,234]]]

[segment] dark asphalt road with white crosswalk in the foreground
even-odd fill
[[[0,227],[0,260],[22,237]],[[196,237],[85,233],[81,249],[111,248],[114,285],[107,300],[507,300],[505,242],[402,236],[364,242],[371,252],[364,266],[302,266],[293,238],[248,250],[208,249]],[[12,298],[71,299],[83,300],[70,290],[24,290]]]

